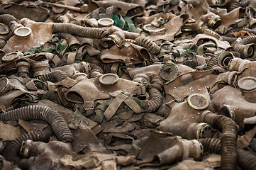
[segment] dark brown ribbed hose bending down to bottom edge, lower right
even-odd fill
[[[199,121],[208,123],[213,128],[217,128],[218,130],[222,130],[221,169],[235,169],[237,159],[236,140],[238,137],[236,123],[224,115],[216,115],[211,111],[204,111],[200,115]]]

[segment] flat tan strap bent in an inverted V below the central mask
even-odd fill
[[[113,99],[113,101],[110,103],[108,108],[106,108],[106,111],[104,112],[104,116],[106,120],[110,120],[113,115],[118,110],[119,106],[121,106],[122,103],[126,103],[126,105],[132,109],[135,113],[142,113],[145,112],[143,108],[141,108],[138,103],[136,103],[130,96],[127,96],[126,94],[118,94],[116,98]]]

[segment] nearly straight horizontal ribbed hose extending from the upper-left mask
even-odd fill
[[[108,35],[108,31],[102,28],[82,27],[73,23],[53,23],[52,32],[70,33],[82,38],[104,38]]]

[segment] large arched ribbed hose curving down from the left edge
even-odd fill
[[[58,140],[72,142],[73,135],[62,116],[47,106],[26,106],[0,114],[1,121],[9,120],[45,120],[50,124]]]

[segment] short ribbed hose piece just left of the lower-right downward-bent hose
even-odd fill
[[[210,154],[221,154],[221,140],[214,138],[203,138],[199,139],[199,142],[204,147],[204,152],[208,152]]]

